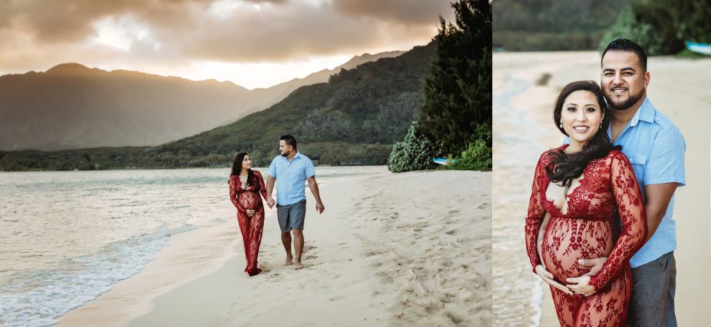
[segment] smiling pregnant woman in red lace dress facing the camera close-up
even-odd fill
[[[623,325],[632,287],[629,258],[646,240],[641,190],[606,133],[606,109],[597,83],[565,86],[553,117],[570,145],[543,153],[533,179],[526,250],[533,271],[550,284],[561,326]],[[578,263],[589,257],[609,258],[589,276],[589,267]]]

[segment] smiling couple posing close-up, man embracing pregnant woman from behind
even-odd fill
[[[650,77],[644,50],[614,40],[602,89],[572,82],[555,101],[567,144],[540,156],[525,240],[561,326],[677,326],[672,214],[686,145],[648,99]]]

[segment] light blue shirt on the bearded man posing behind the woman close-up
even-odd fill
[[[609,128],[607,134],[610,135]],[[565,138],[565,143],[568,142]],[[652,106],[648,97],[614,145],[622,145],[622,153],[632,164],[642,196],[645,185],[678,183],[679,187],[683,187],[686,184],[684,136],[667,116]],[[672,218],[674,197],[671,197],[664,218],[652,238],[629,260],[630,267],[639,267],[676,250],[676,222]]]

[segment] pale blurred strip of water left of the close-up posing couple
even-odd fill
[[[533,171],[551,126],[527,118],[512,99],[532,85],[508,77],[493,92],[493,326],[540,326],[542,283],[525,252],[523,227]]]

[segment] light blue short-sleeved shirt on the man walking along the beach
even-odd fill
[[[277,204],[288,206],[306,200],[306,179],[314,176],[316,170],[311,159],[296,151],[291,162],[282,155],[274,157],[267,174],[277,179]]]

